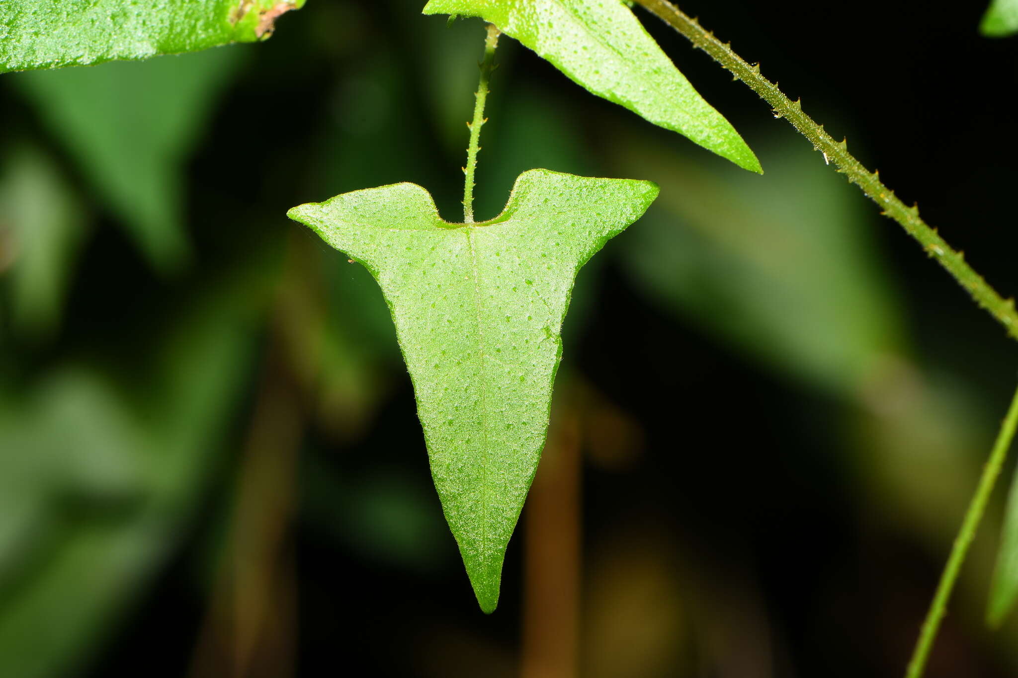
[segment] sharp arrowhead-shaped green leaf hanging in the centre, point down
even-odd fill
[[[408,183],[288,212],[363,263],[385,294],[435,486],[485,612],[498,604],[545,444],[576,272],[657,195],[646,181],[530,170],[503,212],[478,224],[442,221]]]

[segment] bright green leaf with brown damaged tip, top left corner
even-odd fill
[[[304,0],[3,0],[0,73],[148,59],[272,33]]]

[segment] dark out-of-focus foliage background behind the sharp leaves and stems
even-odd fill
[[[459,221],[484,29],[420,5],[309,0],[262,45],[0,78],[0,675],[901,675],[1013,345],[640,9],[766,174],[503,38],[478,218],[531,167],[662,197],[579,278],[479,612],[381,295],[285,218],[413,181]],[[680,6],[1018,290],[1018,42],[983,7]],[[1004,496],[930,678],[1018,671],[1018,626],[982,622]]]

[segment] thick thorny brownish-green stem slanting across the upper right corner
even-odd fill
[[[937,259],[951,273],[958,284],[968,290],[972,299],[987,310],[1004,327],[1012,338],[1018,340],[1018,312],[1014,299],[1005,300],[965,262],[965,255],[957,252],[919,218],[916,206],[908,207],[885,186],[878,172],[870,173],[848,152],[845,141],[837,142],[802,112],[801,101],[791,101],[778,85],[760,75],[759,64],[750,65],[732,51],[731,44],[722,43],[714,34],[700,26],[696,19],[684,14],[668,0],[636,0],[666,23],[685,36],[698,47],[731,71],[736,79],[742,80],[774,109],[777,117],[785,118],[813,144],[813,148],[824,153],[825,160],[837,166],[838,171],[847,175],[848,180],[862,189],[873,202],[884,209],[884,214],[898,222],[912,236],[930,257]]]

